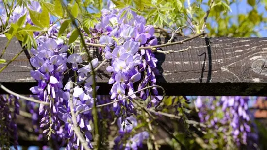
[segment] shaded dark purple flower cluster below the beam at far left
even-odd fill
[[[9,139],[12,139],[12,145],[17,150],[18,135],[15,122],[17,115],[19,115],[18,98],[13,95],[0,95],[0,148],[8,149]]]

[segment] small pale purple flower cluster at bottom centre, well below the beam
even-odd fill
[[[127,117],[126,120],[121,122],[121,118],[118,119],[117,125],[119,128],[119,136],[117,136],[114,140],[115,150],[138,150],[138,148],[142,148],[143,141],[149,137],[149,133],[146,131],[134,134],[134,136],[129,138],[132,130],[137,126],[137,120],[135,117]],[[126,123],[128,122],[128,123]],[[125,147],[121,143],[122,140],[127,140]]]

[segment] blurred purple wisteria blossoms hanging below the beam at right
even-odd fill
[[[208,128],[231,133],[238,147],[248,143],[254,147],[251,141],[256,143],[258,137],[256,129],[251,128],[253,122],[250,121],[248,101],[249,97],[240,96],[223,96],[220,100],[216,97],[198,97],[195,104],[199,109],[200,122],[207,123]],[[224,139],[227,141],[226,135]]]

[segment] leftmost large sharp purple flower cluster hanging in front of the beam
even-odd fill
[[[63,41],[41,36],[36,39],[37,49],[32,48],[34,55],[30,59],[31,65],[36,70],[31,70],[31,76],[38,81],[38,86],[30,88],[33,94],[37,94],[39,100],[48,102],[46,106],[40,104],[39,114],[43,115],[41,119],[41,127],[48,129],[44,133],[48,133],[50,138],[52,133],[58,131],[61,123],[58,119],[58,106],[66,97],[63,88],[63,73],[67,69],[67,49]]]

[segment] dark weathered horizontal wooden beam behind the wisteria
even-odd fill
[[[175,39],[175,41],[183,38]],[[160,44],[168,39],[159,39]],[[0,38],[0,52],[7,40]],[[167,95],[261,95],[267,96],[267,38],[196,38],[184,44],[172,45],[162,50],[182,50],[168,55],[157,53],[158,85]],[[10,61],[20,50],[17,40],[12,40],[3,58]],[[30,76],[33,69],[22,53],[0,73],[0,82],[18,93],[30,94],[36,86]],[[28,56],[29,57],[29,56]],[[0,64],[3,67],[4,64]],[[108,94],[110,74],[105,67],[98,71],[99,93]],[[0,93],[4,93],[0,90]]]

